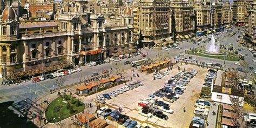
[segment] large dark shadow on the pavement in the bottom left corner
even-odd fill
[[[37,127],[30,121],[33,114],[29,111],[29,107],[18,105],[20,107],[17,109],[17,104],[20,102],[15,104],[13,101],[0,103],[0,127]],[[32,118],[35,117],[32,116]]]

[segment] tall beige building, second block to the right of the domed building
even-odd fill
[[[193,4],[188,1],[171,1],[172,30],[177,39],[189,38],[195,31]]]

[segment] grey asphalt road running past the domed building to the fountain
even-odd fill
[[[239,32],[237,32],[236,35],[234,35],[233,37],[229,37],[227,36],[226,33],[223,34],[225,36],[225,38],[220,38],[222,35],[219,36],[215,36],[215,38],[219,37],[220,38],[220,43],[224,43],[224,44],[228,44],[228,43],[233,43],[235,48],[238,46],[238,44],[236,43],[235,39],[237,39],[237,37],[239,36]],[[201,38],[207,38],[206,36],[203,36]],[[160,55],[160,56],[166,56],[166,57],[170,57],[171,59],[174,58],[174,56],[177,56],[178,53],[184,52],[185,50],[189,50],[190,48],[197,48],[201,45],[206,45],[206,43],[200,44],[200,45],[195,45],[192,43],[188,43],[188,42],[183,42],[180,43],[181,46],[181,50],[179,49],[170,49],[169,51],[165,51],[165,50],[157,50],[157,49],[148,49],[145,48],[144,50],[142,49],[142,52],[146,54],[146,52],[148,53],[147,58],[151,58],[151,59],[156,59],[156,55]],[[249,64],[249,66],[253,66],[256,69],[256,64],[252,62],[252,53],[250,53],[250,51],[248,50],[243,50],[242,52],[248,53],[248,57],[245,57],[246,62]],[[159,57],[159,56],[158,56]],[[127,70],[130,69],[130,65],[124,65],[124,62],[126,60],[129,61],[133,61],[133,60],[138,60],[142,57],[140,56],[136,56],[136,57],[132,57],[132,58],[127,58],[127,59],[123,59],[120,62],[117,62],[118,67],[120,70]],[[198,57],[198,56],[193,56],[194,59],[197,59],[198,62],[207,62],[210,61],[212,63],[220,63],[224,65],[224,60],[218,60],[218,59],[213,59],[213,58],[206,58],[206,57]],[[106,63],[106,64],[102,64],[102,65],[97,65],[97,66],[93,66],[93,67],[87,67],[87,66],[83,66],[81,69],[83,70],[82,72],[77,72],[77,73],[73,73],[72,75],[69,76],[65,76],[66,80],[64,83],[64,86],[68,86],[71,84],[75,84],[75,83],[79,83],[81,78],[84,77],[89,77],[92,75],[92,72],[102,72],[105,69],[110,70],[111,68],[113,69],[111,73],[115,73],[113,65],[116,62],[111,62],[111,63]],[[237,68],[237,65],[234,65],[234,62],[229,62],[226,61],[225,62],[226,67],[234,67]],[[125,75],[127,77],[130,78],[129,75]],[[44,80],[42,82],[38,82],[38,83],[32,83],[32,81],[30,80],[29,82],[26,83],[21,83],[19,85],[11,85],[11,86],[1,86],[1,90],[0,90],[0,103],[2,102],[6,102],[6,101],[14,101],[14,102],[18,102],[20,100],[26,99],[26,98],[30,98],[32,100],[35,99],[35,96],[37,96],[37,98],[42,98],[44,95],[48,95],[50,93],[50,89],[52,89],[53,85],[55,84],[55,79],[48,79],[48,80]],[[56,90],[58,89],[57,86],[55,86]],[[35,95],[35,91],[37,92]]]

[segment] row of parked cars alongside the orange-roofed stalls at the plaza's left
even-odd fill
[[[96,98],[96,102],[98,102],[100,104],[105,104],[105,99],[112,99],[113,97],[123,94],[126,91],[133,90],[133,89],[137,88],[138,86],[143,86],[143,85],[144,84],[142,82],[140,82],[140,80],[133,80],[128,85],[120,87],[116,91],[111,91],[109,93],[104,93],[103,95],[98,96]]]

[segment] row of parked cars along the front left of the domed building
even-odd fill
[[[46,80],[46,79],[53,79],[55,77],[62,77],[62,76],[66,76],[66,75],[71,75],[72,73],[75,73],[75,72],[78,72],[78,71],[82,71],[82,70],[78,67],[75,68],[75,69],[69,69],[69,70],[60,69],[60,70],[57,70],[54,73],[50,73],[50,74],[47,74],[47,75],[42,75],[42,76],[39,76],[39,77],[34,77],[33,81],[34,82],[39,82],[39,81]]]

